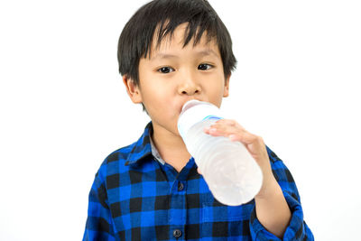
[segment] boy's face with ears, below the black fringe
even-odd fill
[[[187,23],[180,24],[171,40],[167,35],[162,41],[160,49],[154,48],[153,41],[151,59],[139,61],[140,87],[124,77],[129,96],[134,103],[143,102],[156,125],[154,130],[159,127],[174,135],[179,135],[177,121],[184,103],[198,99],[220,107],[229,88],[216,42],[207,44],[203,33],[196,46],[191,40],[182,48],[186,27]]]

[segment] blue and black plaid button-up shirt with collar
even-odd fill
[[[255,200],[229,207],[213,198],[193,157],[180,171],[155,147],[153,125],[106,157],[90,190],[83,240],[280,240],[255,215]],[[292,211],[283,240],[313,240],[290,171],[266,146]]]

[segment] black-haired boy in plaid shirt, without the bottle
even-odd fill
[[[255,199],[227,207],[178,133],[182,105],[220,107],[236,66],[227,28],[206,0],[143,5],[119,38],[118,61],[129,97],[152,121],[97,171],[83,240],[313,240],[290,171],[260,136],[227,119],[204,130],[245,144],[263,171]]]

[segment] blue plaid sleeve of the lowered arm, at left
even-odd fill
[[[101,170],[97,171],[88,200],[88,218],[83,241],[116,240],[113,220],[108,206],[106,184]]]

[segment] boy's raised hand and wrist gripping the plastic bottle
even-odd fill
[[[213,136],[225,136],[231,141],[245,144],[245,148],[255,158],[255,162],[261,167],[264,181],[261,190],[255,198],[266,199],[279,185],[273,176],[270,159],[261,136],[251,134],[239,125],[235,120],[220,119],[215,124],[204,129],[206,134]]]

